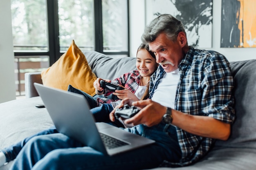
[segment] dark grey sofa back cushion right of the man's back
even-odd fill
[[[236,120],[227,141],[216,146],[256,148],[256,60],[231,62],[234,76]]]

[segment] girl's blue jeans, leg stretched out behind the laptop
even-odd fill
[[[91,112],[92,115],[94,116],[94,119],[96,122],[106,122],[109,123],[113,126],[117,126],[117,127],[124,127],[124,125],[120,122],[120,121],[115,121],[112,122],[109,119],[109,113],[113,110],[113,107],[111,104],[102,104],[99,107],[96,108],[92,108]],[[39,136],[39,135],[47,135],[47,134],[52,134],[52,133],[58,133],[58,131],[56,130],[55,126],[52,126],[49,129],[43,130],[41,132],[38,132],[35,135],[32,135],[30,137],[25,138],[24,140],[18,142],[17,144],[11,145],[7,148],[4,148],[3,150],[1,150],[5,157],[6,157],[6,161],[9,162],[11,160],[14,160],[16,158],[16,156],[18,155],[18,153],[20,152],[20,150],[22,149],[22,147],[27,143],[27,141],[29,141],[32,137],[35,136]]]

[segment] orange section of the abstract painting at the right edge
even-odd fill
[[[238,0],[240,13],[238,29],[240,29],[239,47],[256,47],[256,0]]]

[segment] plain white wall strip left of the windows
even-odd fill
[[[11,1],[0,1],[0,103],[16,98],[11,31]]]

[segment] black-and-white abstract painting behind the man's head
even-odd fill
[[[145,0],[146,24],[169,13],[184,24],[188,44],[212,47],[212,0]]]

